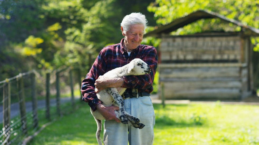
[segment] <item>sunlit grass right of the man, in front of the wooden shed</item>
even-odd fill
[[[158,108],[154,144],[259,144],[259,106],[218,102]]]

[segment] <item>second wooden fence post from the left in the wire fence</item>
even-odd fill
[[[24,134],[27,134],[27,121],[26,121],[26,109],[25,109],[25,98],[24,98],[24,88],[23,88],[23,76],[21,73],[18,78],[18,90],[19,90],[18,96],[19,96],[22,132]]]

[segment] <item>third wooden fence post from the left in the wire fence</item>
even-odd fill
[[[35,72],[31,73],[31,97],[32,97],[32,112],[33,112],[33,128],[38,128],[38,114],[37,114],[37,97],[35,90]]]

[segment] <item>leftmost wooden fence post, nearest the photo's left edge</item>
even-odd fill
[[[3,86],[3,132],[4,132],[4,144],[10,142],[11,136],[11,85],[8,79]]]

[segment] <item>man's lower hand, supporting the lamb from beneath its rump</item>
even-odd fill
[[[106,120],[115,120],[116,122],[121,122],[114,113],[115,110],[119,110],[116,106],[104,106],[102,103],[97,105],[97,110],[103,115]]]

